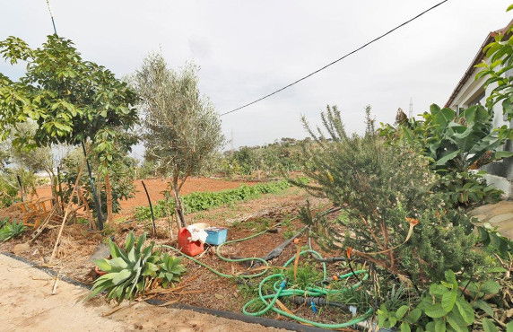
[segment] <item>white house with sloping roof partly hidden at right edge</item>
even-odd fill
[[[455,109],[466,109],[475,104],[481,103],[484,105],[486,98],[490,95],[491,90],[493,90],[496,85],[490,85],[484,89],[484,82],[486,81],[486,77],[482,77],[479,80],[474,80],[475,74],[479,71],[483,70],[483,68],[475,68],[474,66],[481,63],[483,60],[488,61],[483,54],[483,48],[491,43],[494,40],[494,37],[499,33],[505,34],[509,31],[509,28],[513,25],[513,21],[509,22],[509,24],[498,30],[491,31],[486,39],[484,39],[483,45],[477,51],[477,54],[474,57],[474,60],[468,66],[465,74],[457,83],[456,88],[452,92],[451,96],[446,103],[446,107]],[[509,36],[507,35],[507,38]],[[513,73],[508,71],[505,73],[510,76]],[[503,125],[507,125],[507,118],[502,115],[502,107],[500,102],[495,105],[494,108],[495,117],[493,118],[493,127],[501,127]],[[512,127],[512,123],[509,123],[509,127]],[[508,141],[504,147],[504,150],[513,151],[513,144],[511,141]],[[486,176],[486,180],[489,184],[500,188],[504,193],[513,197],[513,157],[505,159],[500,162],[491,162],[488,165],[483,167],[484,170],[488,171],[488,175]]]

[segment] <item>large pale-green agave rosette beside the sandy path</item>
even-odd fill
[[[94,282],[88,299],[107,291],[108,301],[115,299],[121,302],[125,299],[134,300],[135,294],[144,293],[146,286],[156,276],[159,269],[157,264],[160,261],[160,253],[153,252],[154,242],[143,248],[144,240],[145,232],[137,240],[134,232],[130,232],[126,236],[124,249],[109,240],[112,259],[102,258],[94,261],[107,274],[101,275]]]

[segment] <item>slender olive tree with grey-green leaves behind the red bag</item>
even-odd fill
[[[135,90],[142,100],[146,159],[170,177],[175,209],[186,226],[179,191],[224,144],[221,121],[208,98],[198,90],[197,67],[170,69],[161,54],[152,54],[135,73]]]

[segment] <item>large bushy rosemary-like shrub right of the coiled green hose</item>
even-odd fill
[[[314,184],[298,185],[343,207],[346,218],[328,220],[303,211],[301,218],[312,225],[319,244],[355,249],[361,258],[416,284],[440,280],[448,268],[472,271],[481,259],[471,250],[474,235],[450,227],[443,200],[432,195],[438,179],[429,160],[411,148],[383,144],[371,132],[347,135],[335,107],[321,116],[328,135],[320,128],[314,134],[305,122],[316,145],[305,148],[303,171]]]

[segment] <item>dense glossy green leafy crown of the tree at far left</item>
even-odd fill
[[[28,63],[18,82],[0,74],[0,139],[16,123],[33,120],[34,135],[16,135],[14,145],[80,144],[89,138],[100,163],[111,161],[118,129],[128,130],[137,120],[135,93],[126,83],[84,61],[71,40],[57,35],[48,36],[41,48],[9,37],[0,41],[0,54],[11,64]]]

